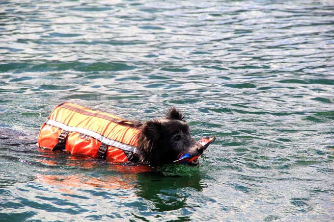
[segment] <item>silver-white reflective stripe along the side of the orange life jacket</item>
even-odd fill
[[[115,147],[115,148],[120,148],[120,149],[123,149],[123,150],[131,151],[131,152],[134,152],[134,153],[139,155],[139,152],[138,152],[136,147],[133,147],[133,146],[130,146],[130,145],[127,145],[127,144],[123,144],[123,143],[118,142],[116,140],[111,140],[111,139],[109,139],[107,137],[104,137],[101,134],[99,134],[97,132],[94,132],[92,130],[84,129],[84,128],[76,127],[76,126],[65,125],[64,123],[60,123],[60,122],[57,122],[57,121],[54,121],[54,120],[49,120],[49,119],[45,123],[48,124],[48,125],[56,126],[58,128],[61,128],[63,130],[69,131],[69,132],[82,133],[84,135],[93,137],[93,138],[101,141],[104,144],[110,145],[110,146]]]

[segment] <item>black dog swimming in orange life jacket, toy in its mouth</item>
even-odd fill
[[[198,165],[198,157],[215,138],[196,142],[184,117],[172,107],[164,118],[140,123],[64,102],[43,124],[38,146],[112,162]]]

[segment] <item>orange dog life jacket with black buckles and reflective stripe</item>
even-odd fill
[[[113,162],[136,162],[140,125],[139,121],[65,102],[56,106],[43,124],[38,146]]]

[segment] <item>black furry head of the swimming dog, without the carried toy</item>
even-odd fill
[[[195,157],[204,151],[204,147],[191,137],[182,112],[174,107],[164,119],[148,121],[141,127],[138,149],[141,161],[151,165],[171,164],[183,153]],[[198,160],[189,164],[198,165]]]

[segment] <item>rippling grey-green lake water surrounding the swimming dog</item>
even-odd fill
[[[39,150],[63,101],[217,140],[146,173]],[[1,1],[0,131],[0,221],[333,221],[334,3]]]

